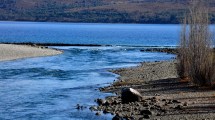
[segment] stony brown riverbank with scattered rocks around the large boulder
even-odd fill
[[[115,118],[162,119],[162,120],[213,120],[215,119],[215,90],[197,88],[188,80],[180,79],[177,62],[163,61],[141,63],[132,68],[111,70],[120,77],[112,85],[101,88],[103,92],[115,93],[94,111],[116,115]],[[122,104],[122,88],[134,88],[141,93],[139,102]]]

